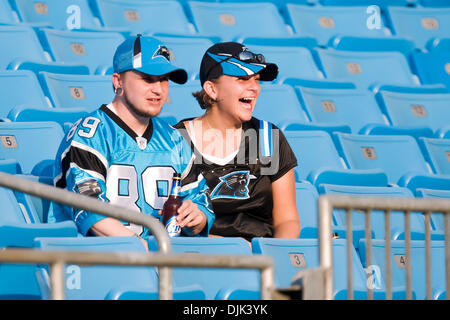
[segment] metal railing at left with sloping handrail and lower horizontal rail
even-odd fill
[[[96,212],[118,220],[147,227],[155,237],[159,253],[104,253],[38,251],[31,249],[5,249],[0,252],[0,262],[48,263],[50,264],[50,287],[52,299],[64,299],[64,268],[73,264],[106,264],[158,266],[158,298],[172,299],[172,270],[170,267],[244,268],[260,270],[261,299],[271,299],[274,290],[273,260],[267,256],[172,254],[170,238],[159,220],[140,212],[111,205],[95,198],[76,194],[43,183],[18,178],[0,172],[0,186],[27,193],[74,208]]]

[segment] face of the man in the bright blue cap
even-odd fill
[[[123,98],[130,110],[141,117],[156,117],[169,95],[168,76],[137,71],[121,74]]]

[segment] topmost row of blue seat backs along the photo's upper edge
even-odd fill
[[[109,29],[132,33],[202,34],[232,40],[240,36],[280,37],[292,34],[316,35],[321,44],[330,35],[349,32],[356,36],[387,36],[391,33],[426,40],[445,35],[446,7],[401,7],[400,3],[354,3],[354,6],[310,6],[311,1],[120,1],[120,0],[45,0],[34,4],[30,0],[11,0],[20,20],[40,23],[56,29]],[[336,3],[335,3],[336,4]],[[405,4],[405,1],[403,1]],[[7,0],[2,0],[5,13],[3,23],[17,23]],[[184,9],[183,9],[184,5]],[[279,7],[277,8],[277,5]],[[367,11],[368,6],[380,5],[382,12]],[[448,7],[448,4],[447,4]],[[184,11],[185,10],[185,11]],[[280,11],[280,12],[279,12]],[[371,15],[377,14],[374,27],[368,27]],[[422,23],[423,18],[426,20]],[[145,18],[144,18],[145,17]],[[170,21],[170,23],[168,23]],[[352,23],[349,23],[352,21]],[[293,31],[289,31],[286,23]],[[356,26],[356,27],[355,27]],[[360,26],[360,27],[358,27]],[[387,29],[391,28],[392,31]],[[448,29],[447,29],[448,30]]]

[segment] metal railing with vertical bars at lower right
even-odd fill
[[[355,196],[341,196],[341,195],[321,195],[318,200],[318,214],[319,214],[319,256],[320,266],[325,270],[324,291],[325,299],[333,299],[333,253],[332,253],[332,214],[334,209],[344,209],[347,212],[347,254],[350,250],[348,247],[352,243],[351,230],[351,210],[362,210],[366,214],[366,238],[367,241],[367,257],[368,264],[370,264],[371,257],[371,234],[367,231],[370,228],[370,213],[372,210],[384,211],[386,223],[386,263],[387,263],[387,288],[386,296],[392,298],[391,290],[391,265],[390,265],[390,250],[391,240],[389,237],[389,216],[391,211],[405,212],[405,248],[406,256],[411,251],[411,235],[409,216],[411,212],[422,212],[425,215],[425,250],[426,256],[430,257],[431,252],[431,235],[430,235],[430,214],[432,212],[439,212],[444,214],[444,239],[445,239],[445,270],[446,270],[446,293],[447,299],[450,299],[450,200],[447,199],[426,199],[426,198],[388,198],[388,197],[355,197]],[[388,252],[389,251],[389,252]],[[427,258],[428,259],[428,258]],[[347,261],[351,261],[347,256]],[[348,268],[348,291],[349,298],[352,298],[352,279],[351,279],[351,265]],[[427,298],[430,298],[431,270],[430,264],[426,265],[426,279],[427,279]],[[406,295],[407,299],[412,298],[411,287],[411,262],[406,260]],[[372,297],[372,290],[368,289],[369,299]]]

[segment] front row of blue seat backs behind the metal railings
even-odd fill
[[[367,299],[367,277],[372,276],[371,288],[375,299],[386,298],[386,262],[384,240],[372,240],[372,265],[366,265],[365,239],[357,252],[351,250],[354,298]],[[241,238],[174,238],[174,253],[247,255],[263,254],[273,258],[275,287],[285,289],[295,283],[298,273],[319,266],[317,239],[254,238],[252,248]],[[149,238],[150,250],[156,241]],[[347,243],[334,239],[333,274],[335,299],[347,298]],[[36,238],[39,250],[87,252],[140,252],[142,243],[133,237],[59,237]],[[392,241],[393,298],[405,299],[405,244]],[[445,298],[444,242],[432,241],[433,298]],[[413,297],[425,299],[425,252],[423,241],[412,241]],[[36,272],[34,278],[31,271]],[[174,268],[175,299],[259,299],[259,274],[254,270]],[[13,275],[13,276],[12,276]],[[24,278],[18,278],[21,275]],[[48,269],[35,265],[2,265],[0,294],[2,298],[48,298]],[[4,280],[4,281],[3,281]],[[156,299],[157,271],[154,267],[66,266],[65,293],[68,299]]]

